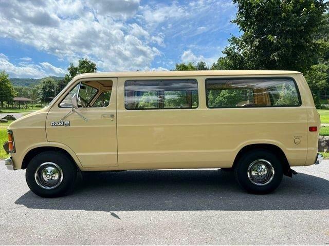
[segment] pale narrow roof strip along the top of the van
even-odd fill
[[[283,75],[301,74],[282,70],[206,70],[206,71],[148,71],[148,72],[97,72],[83,73],[78,78],[90,77],[171,77],[171,76],[230,76],[230,75]]]

